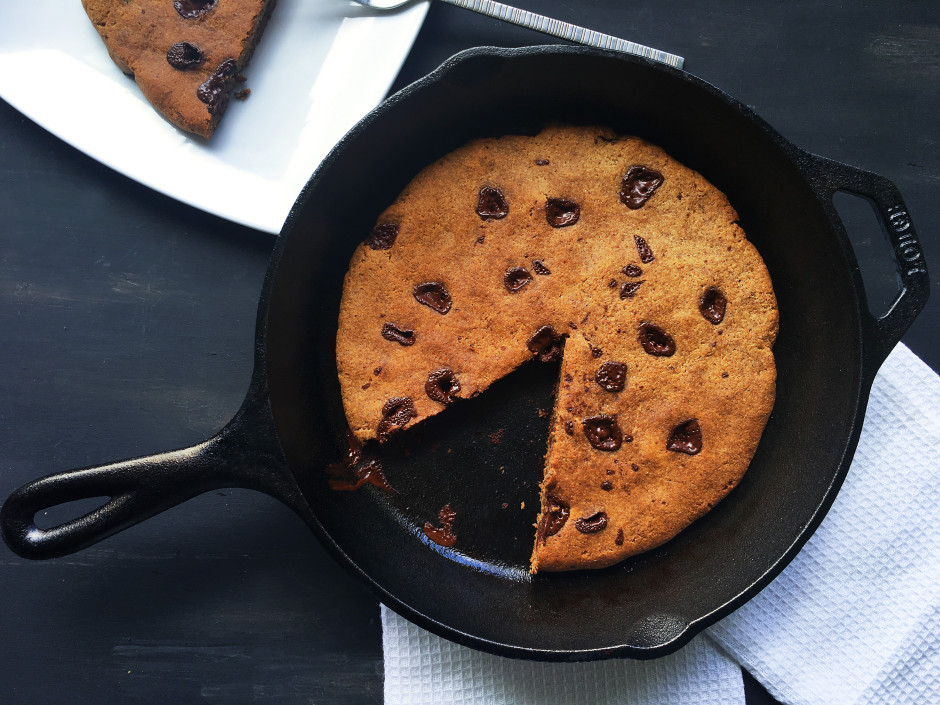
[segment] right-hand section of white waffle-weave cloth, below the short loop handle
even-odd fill
[[[781,702],[940,703],[940,377],[903,345],[796,559],[709,635]]]

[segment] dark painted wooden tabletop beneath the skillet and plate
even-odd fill
[[[681,54],[797,145],[893,180],[940,288],[940,5],[518,4]],[[435,4],[396,88],[466,47],[544,41]],[[884,308],[896,284],[880,228],[868,216],[850,230]],[[0,498],[218,430],[247,387],[273,243],[0,101]],[[935,296],[904,339],[935,370],[938,333]],[[0,547],[0,585],[6,705],[382,699],[377,601],[257,493],[204,495],[59,560]],[[746,683],[749,702],[772,702]]]

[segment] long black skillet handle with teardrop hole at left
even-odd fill
[[[223,487],[260,490],[288,504],[299,496],[274,435],[266,394],[249,392],[235,417],[204,443],[47,475],[20,487],[0,509],[0,532],[24,558],[58,558]],[[97,497],[108,500],[58,526],[36,526],[38,512]]]

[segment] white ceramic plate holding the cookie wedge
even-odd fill
[[[323,157],[385,97],[427,6],[278,0],[245,70],[251,96],[205,141],[150,107],[80,0],[0,0],[0,97],[142,184],[278,233]]]

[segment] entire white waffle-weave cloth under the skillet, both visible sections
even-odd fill
[[[656,661],[545,664],[458,646],[383,606],[385,702],[738,705],[740,663],[788,705],[938,703],[938,520],[940,377],[899,345],[826,519],[737,612]]]

